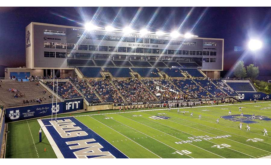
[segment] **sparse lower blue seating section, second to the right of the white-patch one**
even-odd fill
[[[194,81],[197,82],[198,85],[201,85],[205,90],[209,91],[216,98],[226,97],[226,94],[223,91],[221,91],[218,87],[213,85],[213,83],[210,82],[209,80],[194,79]]]

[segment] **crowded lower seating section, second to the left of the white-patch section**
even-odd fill
[[[90,80],[90,85],[98,93],[102,102],[122,103],[123,99],[119,96],[118,92],[108,79],[99,81]]]

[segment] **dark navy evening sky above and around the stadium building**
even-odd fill
[[[245,64],[253,62],[251,52],[242,54],[233,49],[259,37],[263,48],[257,51],[257,66],[271,69],[270,7],[0,7],[0,65],[25,66],[25,27],[30,22],[83,26],[91,20],[102,27],[111,24],[117,28],[133,20],[134,29],[147,27],[154,32],[172,32],[182,24],[181,33],[224,38],[224,70],[239,58]]]

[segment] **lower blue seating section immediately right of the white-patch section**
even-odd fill
[[[191,79],[185,80],[173,79],[172,82],[174,83],[174,85],[176,85],[179,89],[181,89],[185,93],[185,99],[212,97],[209,94],[209,92],[205,91],[203,88],[198,86]]]

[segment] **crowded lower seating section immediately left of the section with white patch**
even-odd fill
[[[138,80],[113,80],[120,93],[127,102],[155,101],[156,98],[151,95],[150,91]]]

